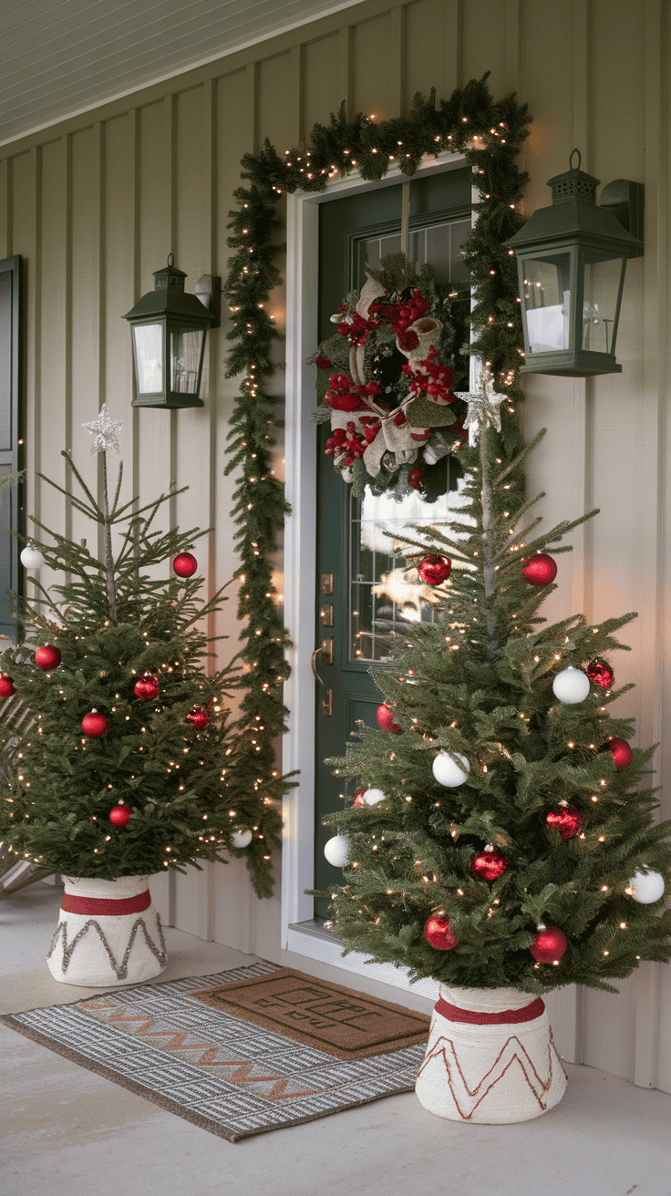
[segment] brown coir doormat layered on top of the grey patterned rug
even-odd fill
[[[366,1058],[427,1041],[429,1019],[292,968],[191,993],[213,1009],[336,1058]]]

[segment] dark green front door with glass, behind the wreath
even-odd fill
[[[402,185],[371,188],[361,195],[323,203],[319,209],[319,340],[334,331],[330,316],[353,287],[365,281],[365,263],[376,267],[385,254],[401,249]],[[438,281],[464,286],[462,243],[471,227],[470,171],[437,173],[410,184],[409,256],[431,262]],[[335,472],[324,454],[328,425],[319,426],[317,477],[317,652],[316,682],[316,844],[315,887],[341,884],[340,868],[324,859],[334,834],[323,826],[327,813],[342,808],[344,782],[323,762],[344,755],[358,720],[377,726],[382,701],[371,676],[389,667],[391,631],[432,618],[431,593],[403,570],[402,556],[385,535],[408,523],[434,523],[458,501],[456,478],[445,478],[445,494],[426,502],[414,492],[403,502],[370,490],[362,501]],[[450,458],[446,458],[449,462]],[[447,474],[449,465],[445,465]],[[361,783],[366,779],[361,777]],[[317,901],[317,917],[328,916],[328,901]]]

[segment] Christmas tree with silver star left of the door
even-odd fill
[[[22,641],[0,658],[0,696],[17,695],[0,725],[8,764],[0,841],[17,859],[100,879],[244,855],[257,893],[268,896],[280,818],[260,787],[237,787],[231,808],[236,724],[225,687],[237,670],[208,667],[203,627],[226,587],[199,597],[190,548],[206,532],[155,530],[178,489],[146,506],[121,502],[122,464],[110,505],[106,450],[118,452],[121,423],[103,405],[85,427],[102,454],[100,502],[66,452],[84,498],[44,481],[92,520],[100,556],[33,520],[51,543],[24,549],[24,563],[66,579],[44,586],[30,578],[31,600],[17,599]],[[19,700],[30,718],[17,721]]]

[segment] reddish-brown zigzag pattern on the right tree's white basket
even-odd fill
[[[441,1045],[444,1044],[444,1045]],[[531,1088],[536,1100],[538,1102],[541,1109],[545,1111],[548,1107],[547,1102],[543,1097],[550,1091],[553,1085],[553,1052],[554,1056],[563,1072],[561,1058],[557,1054],[555,1046],[555,1041],[553,1038],[553,1031],[548,1027],[548,1079],[542,1080],[533,1066],[529,1052],[521,1045],[517,1035],[511,1035],[506,1038],[501,1050],[496,1055],[489,1070],[482,1076],[482,1079],[476,1084],[474,1088],[469,1088],[455,1044],[451,1038],[445,1038],[444,1035],[440,1036],[427,1051],[426,1058],[419,1070],[417,1078],[422,1072],[432,1063],[434,1060],[443,1057],[443,1063],[447,1073],[447,1082],[450,1085],[450,1091],[452,1093],[452,1099],[459,1112],[459,1116],[464,1121],[469,1121],[477,1106],[484,1100],[486,1096],[492,1091],[492,1088],[504,1079],[506,1072],[516,1062],[518,1062],[521,1068],[521,1073],[526,1084]],[[565,1073],[566,1074],[566,1073]],[[489,1081],[489,1082],[488,1082]]]

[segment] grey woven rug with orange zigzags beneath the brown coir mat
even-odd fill
[[[242,1006],[245,982],[251,981],[251,991],[266,1001],[270,1000],[264,995],[268,980],[277,976],[286,986],[287,972],[294,977],[294,988],[281,988],[283,1000],[275,995],[273,1005],[263,1007],[263,1024],[251,1020]],[[295,977],[309,982],[312,996],[307,988],[299,988]],[[238,1003],[213,1005],[213,990],[221,994],[226,989],[236,994]],[[281,1025],[281,1015],[286,1017],[287,1008],[291,1012],[291,991],[297,993],[297,1000],[303,991],[306,1017],[329,1023],[331,1038],[334,1024],[346,1023],[343,993],[350,1002],[352,1025],[367,1020],[368,1007],[374,1021],[373,1011],[385,1006],[384,1001],[361,997],[340,986],[260,963],[213,976],[115,989],[74,1005],[6,1014],[0,1021],[230,1142],[414,1090],[428,1038],[428,1018],[402,1011],[417,1024],[410,1045],[399,1045],[410,1036],[394,1037],[388,1050],[378,1041],[364,1057],[342,1057],[334,1054],[333,1042],[328,1048],[322,1042],[316,1044],[310,1037],[315,1026],[306,1031],[303,1025],[300,1030],[307,1042],[297,1038],[293,1026],[289,1035]],[[319,1013],[319,1002],[323,1009],[329,1001],[333,1017]],[[311,1005],[315,1008],[309,1011]],[[299,1005],[293,1008],[298,1011]],[[389,1008],[395,1017],[398,1014],[397,1006]],[[395,1035],[398,1023],[392,1020],[390,1025]]]

